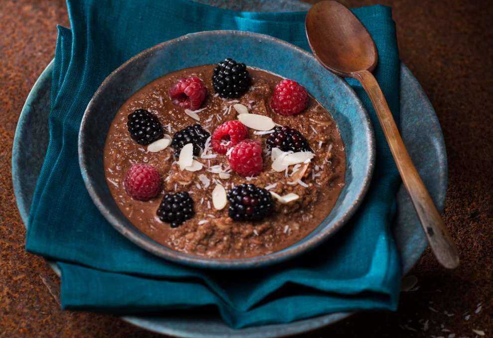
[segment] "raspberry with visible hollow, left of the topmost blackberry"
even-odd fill
[[[197,110],[207,95],[207,88],[202,80],[195,76],[178,80],[169,88],[169,97],[173,104],[182,108]]]

